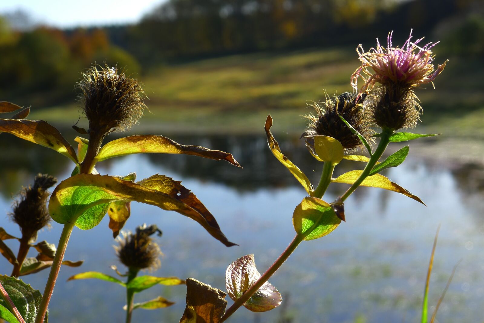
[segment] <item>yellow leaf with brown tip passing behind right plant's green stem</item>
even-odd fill
[[[362,173],[363,173],[362,170],[351,171],[333,179],[332,183],[353,184],[360,177]],[[400,185],[393,183],[390,179],[388,179],[388,177],[385,177],[380,174],[375,174],[373,176],[366,177],[360,185],[368,186],[368,187],[378,187],[380,189],[402,193],[403,195],[408,196],[409,198],[412,198],[415,201],[425,205],[425,203],[423,203],[418,196],[413,195],[412,193],[410,193]]]

